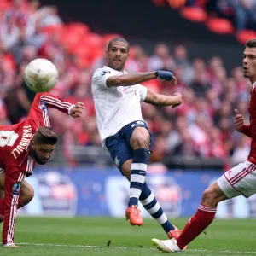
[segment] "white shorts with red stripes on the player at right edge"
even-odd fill
[[[249,161],[233,167],[218,178],[218,186],[228,198],[256,193],[256,166]]]

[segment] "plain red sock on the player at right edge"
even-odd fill
[[[185,225],[181,235],[177,238],[177,245],[181,249],[199,236],[203,230],[207,228],[215,217],[217,209],[200,205],[195,215],[189,219]]]

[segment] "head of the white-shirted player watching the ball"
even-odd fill
[[[123,42],[114,42],[110,49],[107,49],[106,55],[108,58],[108,67],[122,71],[130,54],[128,52],[127,44]]]

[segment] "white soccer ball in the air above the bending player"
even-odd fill
[[[25,69],[26,86],[34,92],[45,92],[53,89],[59,77],[55,65],[46,59],[31,61]]]

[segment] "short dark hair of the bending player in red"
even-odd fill
[[[42,126],[39,127],[38,131],[34,134],[33,140],[37,144],[55,145],[58,141],[58,137],[51,128]]]

